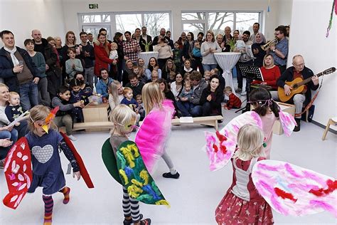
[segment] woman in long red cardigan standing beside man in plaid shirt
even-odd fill
[[[100,70],[105,68],[109,70],[109,64],[112,63],[112,59],[109,58],[111,51],[110,44],[107,42],[107,38],[103,33],[99,33],[97,41],[95,42],[95,75],[100,78]]]

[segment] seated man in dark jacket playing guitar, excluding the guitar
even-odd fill
[[[306,66],[304,66],[304,58],[301,55],[296,55],[292,58],[291,67],[282,73],[282,75],[277,80],[277,86],[284,88],[284,94],[290,95],[291,86],[287,85],[286,81],[292,81],[295,78],[302,78],[303,80],[311,77],[311,81],[305,85],[304,90],[301,93],[295,94],[291,99],[296,107],[295,114],[299,114],[302,111],[303,105],[307,105],[311,100],[311,90],[317,90],[319,88],[319,78],[314,75],[313,71]],[[294,132],[300,130],[300,119],[301,115],[295,117],[297,126],[294,128]]]

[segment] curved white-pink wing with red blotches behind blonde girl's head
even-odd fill
[[[257,125],[262,129],[262,120],[257,112],[245,112],[228,122],[218,134],[206,132],[206,152],[210,159],[210,170],[218,170],[225,167],[235,152],[237,133],[243,125]],[[223,136],[227,140],[223,139]],[[220,139],[219,139],[220,138]],[[225,149],[225,150],[224,150]],[[217,151],[218,150],[218,151]]]

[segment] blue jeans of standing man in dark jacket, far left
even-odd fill
[[[33,81],[20,85],[20,98],[23,111],[38,105],[38,85]]]

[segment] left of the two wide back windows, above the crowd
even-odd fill
[[[117,31],[123,34],[125,31],[134,33],[136,28],[142,26],[146,26],[147,33],[151,36],[157,36],[161,28],[171,31],[171,12],[169,11],[78,14],[78,19],[80,30],[92,33],[96,38],[100,28],[105,28],[110,40]]]

